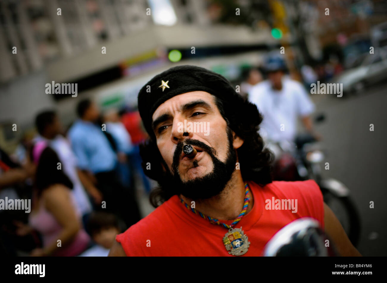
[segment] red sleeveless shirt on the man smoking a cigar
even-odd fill
[[[243,256],[260,256],[278,230],[300,217],[313,217],[324,229],[324,202],[315,181],[274,181],[264,187],[248,181],[248,185],[253,208],[234,227],[242,227],[250,242]],[[297,208],[275,209],[272,202],[277,199],[297,200]],[[233,220],[221,222],[231,224]],[[188,210],[175,195],[117,235],[116,241],[127,256],[231,256],[223,244],[226,232],[223,226]]]

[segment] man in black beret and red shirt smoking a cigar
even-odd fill
[[[272,154],[258,134],[262,116],[226,78],[176,66],[144,85],[138,107],[150,137],[140,153],[159,183],[151,193],[158,208],[116,236],[110,256],[260,256],[300,217],[317,219],[342,256],[360,255],[315,181],[272,182]],[[179,131],[184,119],[208,122],[210,134]],[[297,199],[297,213],[266,210],[272,197]]]

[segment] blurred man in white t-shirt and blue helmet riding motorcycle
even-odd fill
[[[301,120],[313,134],[309,117],[315,107],[301,83],[284,75],[286,65],[281,57],[271,56],[265,63],[268,79],[253,86],[249,100],[257,105],[263,116],[260,134],[273,142],[294,141],[297,134],[297,119]]]

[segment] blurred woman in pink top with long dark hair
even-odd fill
[[[76,256],[86,250],[90,237],[75,209],[70,193],[73,185],[63,168],[58,169],[59,158],[46,142],[34,145],[30,159],[36,173],[29,224],[43,237],[43,247],[34,249],[31,256]]]

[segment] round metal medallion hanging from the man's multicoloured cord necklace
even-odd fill
[[[226,246],[226,250],[229,251],[228,253],[233,256],[245,254],[248,251],[248,247],[250,247],[250,242],[248,237],[243,234],[242,227],[230,228],[223,237],[223,244]]]

